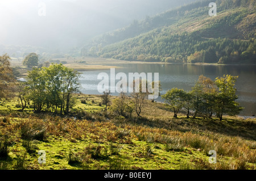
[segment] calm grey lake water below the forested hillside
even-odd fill
[[[109,65],[109,64],[108,64]],[[165,94],[167,90],[177,87],[185,91],[191,90],[200,75],[214,80],[224,74],[238,75],[236,89],[238,102],[245,109],[240,113],[241,116],[251,116],[256,113],[256,65],[191,65],[191,64],[118,64],[122,68],[115,69],[115,74],[126,73],[159,73],[159,81],[162,85],[160,94]],[[81,92],[84,94],[100,94],[97,85],[101,80],[97,79],[99,73],[109,74],[109,70],[81,71],[80,78]],[[154,80],[154,79],[153,79]],[[128,81],[128,80],[127,80]],[[110,82],[110,81],[109,81]],[[118,82],[116,80],[115,82]],[[118,95],[113,93],[112,95]],[[159,97],[156,101],[163,102]]]

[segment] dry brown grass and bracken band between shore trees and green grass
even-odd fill
[[[80,96],[81,99],[85,99]],[[98,100],[94,96],[90,96],[91,99],[95,99],[96,102]],[[145,141],[147,144],[162,144],[162,149],[167,152],[192,154],[191,151],[197,151],[204,157],[208,156],[209,150],[217,152],[215,165],[209,165],[202,157],[191,159],[181,165],[182,168],[255,169],[255,120],[234,117],[226,117],[224,121],[186,119],[184,115],[174,119],[172,114],[162,103],[151,102],[144,108],[142,118],[134,116],[131,119],[112,117],[108,120],[105,116],[110,113],[102,112],[90,113],[88,117],[94,117],[92,120],[46,114],[26,116],[22,113],[11,113],[0,117],[0,135],[7,136],[13,142],[26,138],[47,141],[49,137],[61,137],[75,144],[81,140],[95,144],[86,147],[82,153],[71,153],[71,162],[78,158],[79,162],[80,158],[83,163],[92,162],[92,159],[118,155],[118,144],[138,147],[134,157],[151,159],[154,150],[147,145],[138,144],[139,141]],[[96,144],[101,144],[101,147]],[[12,151],[15,154],[19,153],[18,149]]]

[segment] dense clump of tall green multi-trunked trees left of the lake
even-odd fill
[[[62,64],[34,68],[28,72],[24,90],[35,111],[69,113],[72,93],[79,91],[79,77],[80,73]]]

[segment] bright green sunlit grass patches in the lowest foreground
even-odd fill
[[[77,141],[76,144],[69,141],[68,139],[63,138],[49,138],[48,142],[38,142],[36,145],[40,150],[46,150],[46,164],[40,165],[37,162],[39,155],[37,154],[28,154],[27,165],[30,165],[31,169],[82,169],[81,165],[70,164],[69,159],[65,157],[66,154],[69,154],[70,149],[73,150],[73,153],[79,153],[89,144],[98,145],[93,141],[81,140]],[[109,157],[99,157],[99,159],[88,158],[84,164],[89,164],[90,169],[106,169],[108,166],[108,160],[114,158],[122,158],[127,165],[131,167],[141,167],[143,169],[178,169],[179,164],[183,159],[191,159],[191,158],[201,158],[205,157],[202,153],[195,151],[195,154],[189,154],[189,150],[185,150],[183,152],[179,151],[171,151],[166,152],[163,150],[163,145],[159,144],[158,149],[154,149],[154,154],[152,155],[143,155],[142,151],[146,149],[147,143],[144,141],[134,141],[133,146],[131,145],[123,145],[122,150],[120,151],[120,155],[111,155],[110,150],[108,148],[107,142],[100,144],[108,149],[107,155]],[[152,146],[152,145],[150,145]],[[16,149],[22,147],[22,145],[18,144],[14,146],[12,149]],[[39,151],[39,149],[37,151]],[[192,150],[193,151],[193,150]],[[24,149],[20,150],[20,152],[25,153]],[[78,154],[79,155],[79,154]],[[10,153],[10,161],[3,162],[6,164],[15,164],[16,154]],[[207,157],[205,157],[205,161],[207,161]],[[88,163],[89,162],[89,163]]]

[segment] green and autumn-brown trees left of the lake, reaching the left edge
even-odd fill
[[[27,64],[30,64],[29,60]],[[0,100],[5,104],[18,92],[22,111],[32,102],[35,112],[51,111],[68,114],[72,94],[79,91],[80,73],[62,64],[32,68],[26,82],[16,81],[10,68],[10,57],[0,56]]]

